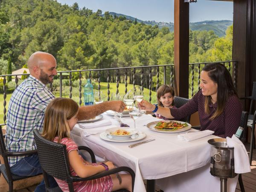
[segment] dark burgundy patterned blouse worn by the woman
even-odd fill
[[[209,104],[210,113],[207,114],[204,110],[204,99],[202,91],[199,90],[198,93],[182,107],[178,109],[171,108],[171,114],[175,119],[182,119],[198,111],[201,131],[208,129],[214,131],[214,135],[218,137],[232,137],[233,134],[236,133],[241,120],[242,105],[241,102],[239,102],[239,98],[236,95],[229,96],[224,111],[220,116],[212,120],[209,118],[215,113],[217,102],[215,104]]]

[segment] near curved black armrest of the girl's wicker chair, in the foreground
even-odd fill
[[[134,188],[134,180],[135,180],[135,173],[134,171],[129,168],[129,167],[125,167],[125,166],[121,166],[121,167],[116,167],[114,169],[108,170],[108,171],[104,171],[104,172],[100,172],[97,173],[93,176],[90,177],[86,177],[86,178],[81,178],[81,177],[71,177],[72,182],[76,182],[76,181],[84,181],[84,180],[93,180],[93,179],[97,179],[100,177],[105,177],[107,175],[111,175],[114,173],[118,173],[118,172],[128,172],[131,175],[131,179],[132,179],[132,189]]]

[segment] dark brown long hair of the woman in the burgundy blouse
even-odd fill
[[[227,98],[230,95],[236,95],[236,89],[233,84],[232,77],[227,70],[227,68],[221,64],[221,63],[210,63],[207,64],[204,68],[203,71],[208,72],[209,78],[217,83],[218,88],[217,88],[217,109],[215,113],[211,116],[210,120],[218,117],[221,115],[223,112]],[[205,112],[207,114],[210,113],[209,110],[209,104],[211,102],[211,96],[205,96],[205,101],[204,101],[204,108]]]

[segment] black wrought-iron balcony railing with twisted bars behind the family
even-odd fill
[[[192,97],[194,93],[199,90],[199,79],[201,69],[207,63],[193,63],[189,64],[189,97]],[[236,86],[236,61],[221,61],[227,69],[232,74],[233,72],[233,81]],[[7,76],[15,77],[15,89],[18,84],[21,82],[17,78],[17,76],[29,76],[29,74],[18,74],[18,75],[0,75],[0,79],[3,81],[2,88],[3,91],[3,122],[6,123],[6,96],[7,96]],[[120,67],[120,68],[110,68],[110,69],[93,69],[93,70],[72,70],[72,71],[60,71],[58,72],[57,79],[54,80],[53,84],[49,84],[49,89],[53,92],[58,92],[59,96],[63,96],[63,89],[65,86],[69,87],[69,98],[73,96],[73,83],[78,81],[78,96],[79,96],[79,105],[82,104],[82,80],[86,80],[87,78],[96,79],[98,90],[101,89],[101,82],[107,83],[107,100],[110,100],[110,87],[111,83],[116,83],[116,93],[119,93],[119,84],[124,84],[125,93],[128,91],[128,84],[140,85],[143,88],[147,88],[149,90],[148,100],[152,101],[152,92],[157,91],[158,87],[161,84],[170,84],[174,87],[174,64],[169,65],[154,65],[154,66],[141,66],[141,67]],[[68,79],[65,79],[67,78]],[[74,79],[77,79],[76,81]],[[68,82],[67,82],[68,81]],[[57,82],[57,84],[55,83]],[[65,82],[65,84],[64,84]],[[84,85],[84,84],[83,84]],[[1,112],[0,112],[1,113]]]

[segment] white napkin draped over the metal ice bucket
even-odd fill
[[[227,145],[234,148],[235,173],[250,172],[250,162],[244,144],[235,135],[227,137]]]

